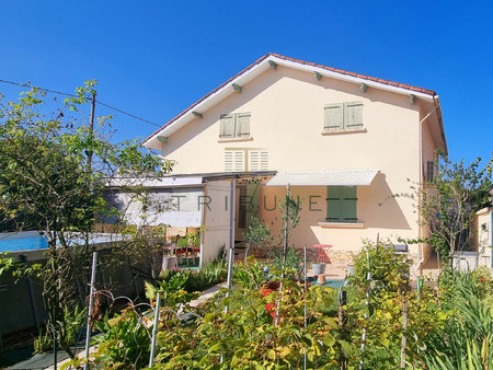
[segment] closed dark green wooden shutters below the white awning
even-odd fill
[[[356,222],[357,197],[356,187],[326,187],[326,221]]]

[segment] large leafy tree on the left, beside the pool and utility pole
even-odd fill
[[[123,174],[160,176],[172,166],[136,140],[112,142],[110,116],[99,117],[95,128],[82,122],[79,109],[95,94],[95,84],[88,81],[61,104],[33,88],[19,102],[0,106],[0,231],[45,231],[47,262],[35,271],[43,281],[46,328],[70,356],[64,323],[67,308],[78,304],[74,282],[87,286],[89,233],[104,217],[124,220],[106,201],[105,184]],[[53,105],[55,113],[45,114]],[[71,247],[72,235],[82,235],[84,245]]]

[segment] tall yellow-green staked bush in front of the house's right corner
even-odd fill
[[[405,255],[395,254],[393,247],[381,243],[366,242],[354,265],[351,285],[356,299],[344,308],[347,320],[341,329],[345,361],[349,367],[358,366],[363,356],[358,347],[365,329],[365,368],[399,368],[402,336],[406,337],[406,361],[421,363],[427,340],[443,333],[448,317],[435,289],[423,287],[419,299],[417,291],[412,290],[409,282],[410,262]],[[402,324],[404,302],[408,302],[406,328]]]

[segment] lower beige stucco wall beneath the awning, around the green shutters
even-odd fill
[[[377,175],[370,186],[357,188],[357,217],[362,226],[354,227],[324,223],[326,215],[326,187],[310,186],[290,187],[291,196],[300,200],[300,221],[295,229],[291,244],[295,246],[312,246],[314,244],[331,244],[335,251],[355,251],[362,247],[364,239],[376,241],[390,240],[398,243],[398,236],[415,238],[417,223],[413,213],[404,215],[402,208],[408,209],[411,199],[395,199],[392,197],[383,174]],[[278,234],[282,226],[282,215],[278,209],[279,200],[284,199],[286,189],[277,186],[263,186],[261,193],[260,218],[271,226]],[[402,204],[399,205],[399,201]],[[275,209],[274,205],[276,205]],[[323,226],[320,226],[322,222]],[[416,247],[411,246],[413,253]]]

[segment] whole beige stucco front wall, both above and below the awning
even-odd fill
[[[323,136],[324,105],[354,101],[364,103],[366,131]],[[251,113],[253,139],[219,142],[220,115],[243,112]],[[375,240],[379,234],[395,241],[398,235],[419,236],[415,201],[392,195],[410,194],[410,186],[420,182],[420,160],[425,163],[428,158],[420,158],[421,146],[427,153],[434,151],[426,127],[420,143],[421,117],[419,102],[412,105],[406,95],[377,89],[364,93],[358,84],[329,78],[317,81],[311,73],[278,67],[170,136],[162,151],[176,161],[176,174],[222,172],[223,152],[232,148],[267,150],[270,170],[279,172],[379,170],[370,186],[358,187],[358,218],[365,223],[359,229],[319,227],[325,218],[325,188],[293,189],[303,197],[320,195],[322,209],[303,210],[295,244],[328,243],[334,248],[357,250],[362,238]],[[284,189],[263,187],[263,195],[280,193]],[[278,213],[263,211],[262,218],[277,228]],[[417,246],[412,246],[412,252],[416,251]]]

